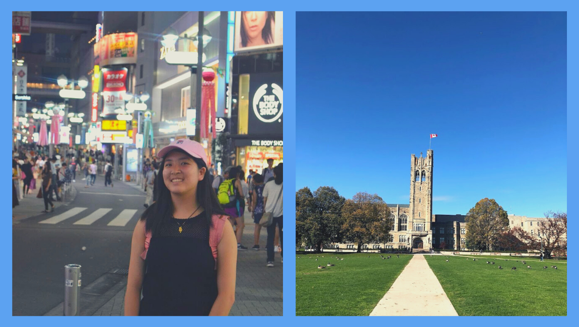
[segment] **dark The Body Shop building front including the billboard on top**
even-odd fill
[[[254,12],[236,12],[236,37],[243,20]],[[236,39],[231,61],[231,164],[261,174],[267,160],[283,163],[283,15],[267,13],[272,39],[267,45],[244,46]],[[275,25],[275,27],[273,27]]]

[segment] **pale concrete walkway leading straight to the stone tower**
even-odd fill
[[[370,315],[458,315],[424,255],[414,255]]]

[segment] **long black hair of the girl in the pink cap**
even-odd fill
[[[209,171],[207,170],[207,165],[205,162],[199,158],[195,158],[189,153],[186,153],[183,150],[174,150],[181,153],[185,153],[188,155],[195,163],[199,169],[205,168],[206,172],[203,175],[203,179],[197,183],[197,203],[199,203],[205,209],[205,216],[207,218],[207,222],[209,226],[212,226],[212,215],[225,215],[225,211],[221,208],[219,201],[217,200],[217,196],[215,192],[211,188],[211,182],[209,178]],[[169,152],[170,153],[170,152]],[[167,156],[165,156],[167,157]],[[165,158],[161,161],[159,172],[157,173],[157,181],[155,182],[155,189],[157,190],[159,196],[157,197],[157,201],[155,203],[149,205],[149,208],[143,212],[141,215],[141,221],[145,221],[145,229],[147,231],[151,231],[151,233],[155,234],[156,230],[159,230],[163,221],[170,219],[173,216],[173,201],[171,201],[171,192],[165,185],[165,181],[163,179],[163,170],[165,167]]]

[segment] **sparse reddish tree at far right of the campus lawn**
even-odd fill
[[[553,253],[567,252],[567,212],[545,212],[545,220],[538,222],[536,233],[530,234],[521,227],[515,227],[513,233],[525,241],[528,248],[541,251],[541,243],[545,258],[551,258]]]

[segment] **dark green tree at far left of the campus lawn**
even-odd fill
[[[320,251],[324,243],[339,242],[344,202],[344,197],[331,186],[320,186],[313,194],[309,188],[296,192],[296,243],[312,245]]]

